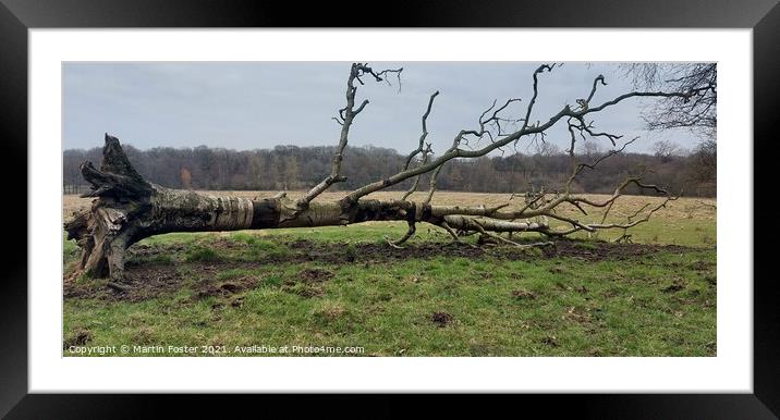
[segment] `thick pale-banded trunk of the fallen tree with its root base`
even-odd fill
[[[453,214],[468,208],[430,206],[406,200],[361,199],[319,202],[301,208],[280,194],[273,198],[220,197],[171,189],[144,180],[130,164],[119,139],[106,135],[100,170],[81,165],[96,197],[89,210],[65,223],[69,239],[82,248],[80,270],[121,282],[124,251],[136,242],[171,232],[214,232],[281,227],[333,226],[366,221],[428,222],[454,230],[545,232],[546,224]],[[479,210],[479,208],[476,208]]]

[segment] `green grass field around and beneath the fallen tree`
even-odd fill
[[[441,193],[435,203],[505,199]],[[625,197],[613,217],[647,200]],[[65,219],[88,203],[65,196]],[[714,203],[671,202],[632,231],[634,244],[605,242],[622,233],[610,232],[546,250],[453,245],[426,225],[393,249],[382,236],[400,237],[405,224],[385,222],[155,236],[129,251],[132,291],[65,282],[63,355],[159,345],[129,356],[184,346],[220,356],[279,356],[261,346],[297,346],[288,354],[298,356],[715,356]],[[65,242],[65,274],[76,258]]]

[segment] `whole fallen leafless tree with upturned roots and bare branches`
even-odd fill
[[[422,118],[422,134],[417,147],[410,152],[398,173],[348,192],[341,199],[333,201],[315,199],[333,184],[346,180],[341,172],[341,162],[349,143],[350,128],[355,118],[368,106],[368,100],[356,104],[355,94],[358,86],[364,84],[364,77],[382,82],[388,81],[388,76],[392,74],[398,75],[400,83],[402,69],[375,71],[365,63],[352,64],[346,83],[346,104],[333,118],[340,124],[341,133],[331,172],[303,197],[295,200],[289,198],[285,193],[280,193],[272,198],[246,199],[155,185],[136,172],[123,152],[119,139],[107,134],[100,169],[88,161],[81,165],[82,175],[92,185],[92,192],[84,194],[83,197],[96,199],[93,200],[90,209],[76,213],[65,223],[68,238],[76,239],[82,249],[78,272],[101,277],[110,276],[112,282],[121,283],[125,250],[145,237],[171,232],[312,227],[348,225],[366,221],[405,221],[409,224],[406,234],[395,240],[388,238],[389,246],[400,247],[409,240],[415,234],[417,223],[429,223],[441,227],[452,236],[453,240],[459,240],[464,235],[479,234],[513,246],[551,244],[550,242],[520,244],[512,239],[511,234],[523,232],[537,232],[548,238],[556,238],[581,231],[594,233],[599,230],[621,228],[624,231],[621,238],[626,238],[629,235],[625,232],[630,227],[646,222],[653,213],[677,197],[660,186],[644,184],[642,172],[629,174],[616,185],[614,193],[602,200],[572,194],[571,185],[578,174],[595,169],[601,161],[620,153],[635,140],[634,138],[624,141],[618,147],[618,141],[622,137],[597,132],[590,118],[630,98],[658,97],[687,100],[698,92],[695,90],[632,91],[598,106],[592,106],[598,86],[606,85],[605,77],[599,75],[594,79],[587,97],[577,100],[576,108],[566,104],[547,122],[540,123],[537,120],[532,124],[532,112],[539,91],[539,75],[551,72],[554,67],[556,64],[544,64],[533,73],[533,96],[520,118],[502,116],[510,106],[520,102],[520,99],[509,99],[499,107],[493,102],[479,116],[476,128],[460,131],[454,136],[452,145],[438,156],[434,155],[431,145],[426,143],[427,120],[439,95],[438,91],[434,92]],[[571,136],[571,146],[566,151],[572,164],[571,175],[560,189],[549,192],[543,188],[539,192],[526,193],[522,196],[524,202],[520,208],[510,207],[509,200],[514,199],[515,195],[512,195],[508,202],[493,207],[431,205],[436,193],[437,174],[448,161],[483,157],[495,150],[503,150],[504,147],[516,146],[523,138],[546,141],[546,131],[559,122],[566,124]],[[508,131],[509,126],[513,129]],[[616,149],[592,162],[580,162],[574,153],[575,143],[578,139],[586,140],[588,137],[606,138]],[[425,173],[431,174],[425,199],[410,200],[409,197],[419,187],[421,175]],[[399,199],[366,198],[371,193],[411,178],[414,180],[412,187]],[[656,206],[649,203],[642,206],[627,217],[624,223],[607,223],[609,210],[629,186],[648,189],[665,198]],[[557,210],[562,206],[573,206],[586,215],[587,209],[604,209],[604,215],[600,223],[586,223],[560,214]],[[553,228],[549,223],[550,219],[564,223],[566,227]],[[510,235],[504,237],[501,233],[510,233]]]

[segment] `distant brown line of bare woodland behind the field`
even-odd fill
[[[577,150],[587,163],[605,155],[595,144]],[[684,151],[668,141],[656,144],[655,153],[614,155],[598,168],[583,172],[572,185],[573,192],[611,194],[626,174],[646,172],[646,182],[683,190],[685,196],[715,197],[716,144],[705,141],[693,151]],[[156,147],[124,150],[138,173],[153,183],[183,189],[296,190],[307,189],[330,172],[334,147],[277,146],[272,149],[233,150],[224,148]],[[101,148],[69,149],[63,152],[65,189],[85,184],[80,165],[85,160],[99,162]],[[405,156],[394,149],[364,146],[344,151],[343,173],[348,181],[338,189],[351,189],[398,172]],[[474,193],[523,193],[545,188],[553,192],[571,174],[569,155],[551,144],[539,144],[534,152],[507,153],[478,159],[455,159],[446,164],[437,178],[440,190]],[[427,188],[429,174],[421,178]],[[405,190],[412,180],[390,189]],[[626,190],[627,194],[641,194]],[[645,192],[645,194],[648,194]]]

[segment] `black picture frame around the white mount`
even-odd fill
[[[324,17],[329,16],[329,17]],[[53,395],[28,394],[27,382],[27,92],[28,33],[31,28],[96,27],[680,27],[752,28],[754,70],[754,197],[771,189],[770,171],[780,110],[780,7],[777,0],[595,0],[595,1],[417,1],[414,4],[361,4],[318,2],[195,1],[195,0],[0,0],[0,144],[8,196],[2,231],[4,280],[0,282],[0,417],[8,418],[131,418],[154,413],[159,403],[174,403],[198,413],[220,417],[241,409],[241,404],[205,402],[204,396],[159,395]],[[334,47],[336,48],[336,47]],[[59,141],[59,139],[52,139]],[[747,146],[747,145],[746,145]],[[761,163],[761,159],[767,162]],[[727,198],[728,199],[728,198]],[[773,218],[756,206],[754,220]],[[21,207],[24,207],[22,209]],[[16,222],[12,222],[16,221]],[[753,226],[749,226],[753,230]],[[768,235],[775,235],[768,233]],[[755,238],[755,236],[754,236]],[[756,238],[758,239],[758,238]],[[753,394],[651,394],[651,395],[513,395],[511,405],[523,409],[533,404],[550,413],[571,412],[599,418],[776,418],[780,415],[780,288],[771,271],[765,271],[772,250],[754,239],[754,366]],[[35,250],[29,250],[35,251]],[[758,258],[764,255],[765,258]],[[765,274],[768,273],[768,274]],[[749,281],[751,279],[745,279]],[[438,412],[430,396],[415,409]],[[222,399],[226,396],[220,397]],[[353,407],[344,396],[275,396],[273,403],[304,411],[324,413]],[[171,400],[172,399],[172,400]],[[244,396],[257,407],[257,397]],[[367,402],[387,415],[409,408],[393,405],[382,396]],[[495,403],[495,402],[493,402]],[[499,408],[487,402],[483,413]],[[267,404],[267,403],[261,403]],[[458,398],[450,407],[463,405]],[[412,407],[404,405],[403,407]],[[264,409],[265,411],[265,409]],[[349,412],[349,411],[348,411]],[[374,417],[374,416],[371,416]]]

